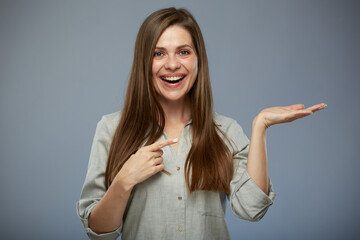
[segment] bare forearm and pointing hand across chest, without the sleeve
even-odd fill
[[[130,157],[90,213],[89,227],[94,232],[112,232],[121,226],[132,189],[136,184],[164,169],[161,148],[175,142],[177,139],[159,141],[140,148]]]

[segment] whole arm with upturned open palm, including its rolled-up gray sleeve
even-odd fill
[[[264,109],[253,120],[250,143],[237,124],[227,131],[238,146],[233,152],[235,173],[229,194],[230,207],[236,216],[258,221],[275,199],[276,194],[268,177],[266,129],[273,124],[305,117],[325,106],[318,104],[303,109],[303,105],[298,104]]]

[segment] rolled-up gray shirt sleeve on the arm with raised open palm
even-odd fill
[[[230,182],[230,208],[239,218],[259,221],[273,204],[276,194],[269,179],[269,195],[266,195],[249,176],[246,165],[249,153],[249,139],[241,126],[234,121],[229,126],[233,149],[234,176]]]

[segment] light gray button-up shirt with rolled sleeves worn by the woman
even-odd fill
[[[246,171],[249,139],[242,128],[235,120],[215,114],[215,123],[233,146],[228,145],[234,160],[230,194],[187,191],[184,165],[192,143],[189,121],[181,133],[178,151],[175,152],[172,146],[163,148],[163,164],[171,175],[159,172],[137,184],[127,203],[121,226],[110,233],[96,234],[88,226],[88,217],[106,191],[106,162],[120,114],[105,115],[97,124],[85,183],[77,202],[78,216],[90,239],[117,239],[120,235],[122,239],[230,239],[224,218],[226,198],[232,212],[249,221],[260,220],[273,203],[275,193],[271,182],[267,196]],[[159,140],[165,138],[163,133]]]

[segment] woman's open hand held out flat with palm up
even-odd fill
[[[268,128],[275,124],[292,122],[298,118],[306,117],[316,111],[324,109],[326,106],[325,103],[320,103],[306,109],[303,104],[294,104],[287,107],[270,107],[262,110],[259,115],[256,116],[256,119]]]

